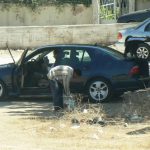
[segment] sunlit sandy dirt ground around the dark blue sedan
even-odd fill
[[[13,52],[15,59],[20,52]],[[0,62],[11,62],[0,51]],[[86,104],[73,112],[53,112],[49,99],[7,99],[0,102],[0,150],[149,150],[150,120],[126,123],[121,117],[123,101]],[[86,110],[86,111],[84,111]],[[149,114],[148,114],[149,115]],[[104,117],[105,126],[89,124]],[[72,119],[79,120],[73,124]]]

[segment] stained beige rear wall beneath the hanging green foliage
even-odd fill
[[[28,7],[0,4],[0,26],[43,26],[91,24],[93,7],[84,5],[63,5],[38,7],[34,11]]]

